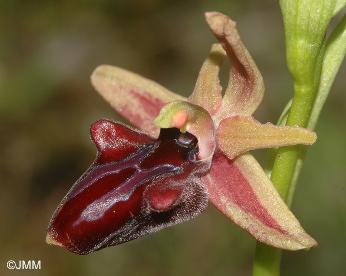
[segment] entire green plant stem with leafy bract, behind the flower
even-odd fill
[[[280,1],[286,33],[287,64],[294,79],[295,89],[287,125],[299,125],[310,129],[316,125],[345,56],[346,16],[324,47],[326,28],[332,16],[345,3],[345,0]],[[280,120],[286,117],[287,108],[284,113]],[[306,151],[307,146],[294,146],[272,149],[268,154],[266,173],[271,175],[271,181],[289,207]],[[280,249],[258,242],[253,275],[280,275],[281,252]]]

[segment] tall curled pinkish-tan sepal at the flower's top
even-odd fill
[[[264,83],[255,61],[245,48],[236,22],[219,12],[206,12],[207,23],[226,51],[231,70],[216,121],[234,115],[252,115],[264,95]]]

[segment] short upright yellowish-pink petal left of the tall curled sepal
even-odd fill
[[[221,105],[222,86],[219,84],[218,72],[226,52],[220,44],[213,44],[210,54],[199,72],[195,89],[188,101],[201,106],[214,115]]]

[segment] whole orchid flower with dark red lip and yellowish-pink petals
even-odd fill
[[[88,254],[189,220],[209,200],[263,243],[317,246],[249,153],[309,145],[316,135],[251,116],[264,93],[259,70],[234,21],[217,12],[206,20],[220,44],[188,99],[125,69],[95,69],[95,89],[140,130],[106,119],[92,124],[96,159],[55,211],[47,243]],[[231,69],[222,97],[218,72],[226,56]]]

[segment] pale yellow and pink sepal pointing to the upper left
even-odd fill
[[[100,65],[91,75],[97,92],[134,126],[159,135],[153,120],[166,103],[186,98],[175,94],[160,84],[128,70]]]

